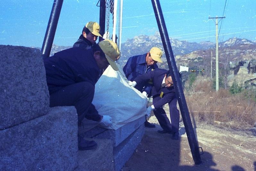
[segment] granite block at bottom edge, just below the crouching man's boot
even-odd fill
[[[78,151],[79,167],[75,171],[112,171],[114,170],[113,143],[110,139],[88,139],[97,143],[94,150]]]

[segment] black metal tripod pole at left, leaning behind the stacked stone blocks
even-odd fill
[[[45,38],[41,49],[43,59],[49,57],[50,55],[62,4],[63,0],[54,0],[53,2],[51,15],[48,21]]]

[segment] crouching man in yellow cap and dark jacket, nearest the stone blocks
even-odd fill
[[[111,117],[99,115],[91,102],[100,69],[110,64],[117,71],[115,61],[119,56],[116,43],[104,40],[91,49],[69,48],[45,59],[50,107],[75,106],[78,124],[87,118],[99,122],[100,125],[111,125]],[[79,150],[91,150],[96,147],[95,141],[87,141],[78,135]]]

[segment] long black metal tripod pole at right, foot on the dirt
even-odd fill
[[[181,110],[181,115],[182,115],[183,123],[185,126],[186,134],[188,137],[188,142],[190,145],[192,157],[193,157],[195,164],[200,164],[202,161],[201,161],[201,156],[199,153],[199,147],[198,147],[198,143],[197,143],[197,140],[195,137],[193,127],[192,127],[186,99],[184,96],[182,84],[181,84],[180,77],[179,77],[179,71],[176,66],[170,39],[169,39],[169,36],[167,33],[165,20],[163,17],[163,12],[162,12],[159,0],[151,0],[151,2],[152,2],[155,16],[157,19],[158,29],[159,29],[160,36],[161,36],[161,39],[163,42],[169,70],[171,71],[171,76],[173,78],[175,93],[176,93],[179,107]]]

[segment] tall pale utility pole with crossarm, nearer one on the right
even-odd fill
[[[216,91],[219,90],[219,55],[218,55],[218,22],[226,17],[209,17],[208,19],[216,19],[215,26],[216,26]],[[218,19],[220,19],[218,21]]]

